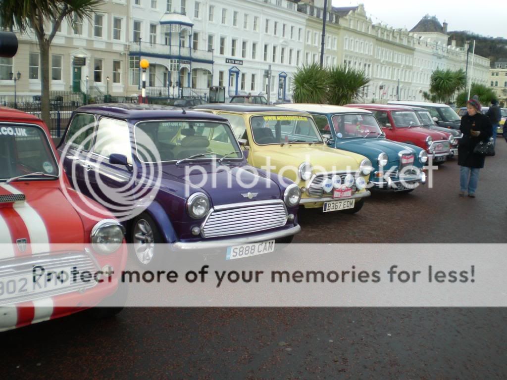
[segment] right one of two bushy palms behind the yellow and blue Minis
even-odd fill
[[[355,103],[359,98],[360,89],[370,82],[364,71],[347,68],[344,65],[333,67],[328,72],[330,104]]]

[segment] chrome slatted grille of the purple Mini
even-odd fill
[[[283,202],[257,205],[243,203],[231,208],[212,210],[204,221],[202,236],[215,238],[248,234],[280,227],[287,222],[287,210]]]

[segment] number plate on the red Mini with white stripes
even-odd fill
[[[44,273],[33,269],[22,275],[0,278],[0,301],[64,289],[72,285],[73,278],[70,275],[72,271],[73,268],[68,267],[52,269]]]

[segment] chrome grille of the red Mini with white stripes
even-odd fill
[[[97,283],[95,281],[82,282],[81,274],[88,271],[95,274],[98,271],[98,267],[94,260],[89,254],[78,252],[68,253],[63,255],[39,255],[30,256],[23,259],[10,259],[0,264],[0,280],[4,286],[7,285],[9,280],[20,278],[21,276],[32,275],[33,268],[36,265],[41,265],[44,268],[45,273],[52,271],[65,270],[70,272],[71,268],[76,267],[79,275],[76,276],[75,282],[71,281],[69,284],[62,284],[57,289],[47,289],[33,292],[32,284],[28,281],[26,289],[28,293],[14,293],[10,297],[0,297],[0,306],[10,305],[12,303],[33,301],[39,298],[46,298],[49,296],[55,296],[73,291],[84,290],[94,287]],[[42,284],[42,280],[41,280]],[[35,286],[37,288],[37,286]]]

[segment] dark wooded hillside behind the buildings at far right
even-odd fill
[[[507,40],[502,37],[485,37],[469,31],[451,31],[448,34],[448,45],[451,45],[452,40],[456,40],[456,46],[463,47],[466,40],[476,40],[476,54],[489,58],[491,67],[494,67],[495,62],[501,58],[507,61]],[[470,44],[471,52],[472,44]]]

